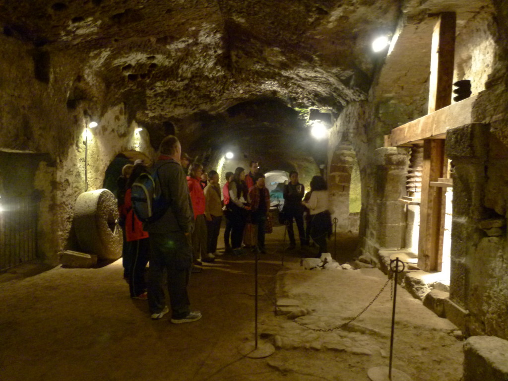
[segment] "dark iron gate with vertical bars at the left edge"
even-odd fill
[[[37,258],[37,210],[34,197],[0,198],[0,271]]]

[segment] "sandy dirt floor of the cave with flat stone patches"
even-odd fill
[[[332,332],[276,316],[274,303],[294,298],[312,311],[297,321],[333,328],[360,312],[386,276],[377,269],[303,270],[300,251],[287,252],[281,267],[282,236],[280,227],[267,235],[269,253],[259,263],[266,292],[259,297],[259,333],[276,345],[272,356],[238,352],[254,337],[252,254],[220,257],[193,274],[190,300],[203,319],[180,325],[170,324],[169,314],[152,321],[147,302],[129,298],[119,260],[0,277],[0,380],[368,380],[369,368],[388,365],[390,285],[351,327]],[[340,237],[339,262],[355,244]],[[415,381],[458,381],[463,355],[456,328],[401,288],[397,300],[394,366]]]

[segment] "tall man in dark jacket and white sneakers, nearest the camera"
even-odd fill
[[[162,288],[166,270],[171,323],[189,323],[201,319],[201,312],[190,310],[187,294],[193,262],[190,233],[194,213],[185,173],[180,165],[180,142],[175,136],[169,135],[161,142],[159,150],[160,156],[152,177],[156,184],[155,190],[157,191],[157,186],[160,187],[166,210],[160,218],[144,224],[151,247],[148,304],[152,319],[161,319],[169,312]]]

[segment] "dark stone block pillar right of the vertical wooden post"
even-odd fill
[[[456,310],[468,309],[469,274],[467,261],[474,257],[483,236],[478,222],[487,218],[483,206],[486,185],[486,161],[489,126],[482,123],[466,124],[448,131],[446,155],[453,166],[453,220],[450,270],[450,300]],[[467,311],[464,311],[467,313]],[[449,319],[461,329],[466,328],[465,316]],[[455,320],[455,321],[454,321]]]

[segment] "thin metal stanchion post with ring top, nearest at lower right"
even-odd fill
[[[400,267],[400,265],[402,265]],[[390,336],[390,361],[388,367],[386,366],[376,366],[370,368],[367,372],[367,375],[372,381],[411,381],[411,378],[401,372],[398,369],[392,368],[392,360],[393,360],[393,338],[395,336],[395,305],[397,303],[397,275],[399,272],[404,271],[404,262],[400,261],[397,257],[396,259],[390,261],[390,270],[394,273],[394,285],[393,285],[393,307],[392,307],[392,334]]]

